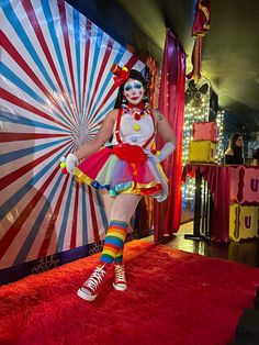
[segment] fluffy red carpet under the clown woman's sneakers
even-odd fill
[[[100,255],[0,288],[0,344],[223,345],[252,307],[259,269],[134,241],[128,290],[106,281],[89,303],[77,289]]]

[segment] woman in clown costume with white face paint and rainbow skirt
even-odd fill
[[[87,301],[97,298],[110,267],[114,267],[113,288],[127,289],[123,247],[130,220],[143,197],[151,196],[158,202],[167,198],[167,178],[160,162],[176,147],[170,125],[148,105],[143,75],[119,65],[112,71],[120,86],[115,108],[105,116],[95,138],[66,159],[68,172],[102,190],[109,220],[100,265],[78,290],[78,296]],[[154,152],[157,132],[165,145]],[[103,147],[112,135],[112,145]]]

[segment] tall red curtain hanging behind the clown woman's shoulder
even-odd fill
[[[167,31],[162,75],[159,96],[159,111],[169,121],[176,137],[177,148],[162,164],[168,177],[169,197],[155,203],[155,241],[178,232],[181,220],[181,175],[182,175],[182,131],[184,113],[185,53],[170,30]],[[161,137],[157,147],[162,147]]]

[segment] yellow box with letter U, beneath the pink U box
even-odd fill
[[[230,204],[229,210],[229,238],[240,240],[258,237],[258,210],[259,207],[243,207],[238,203]]]

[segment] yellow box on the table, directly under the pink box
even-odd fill
[[[213,163],[216,144],[211,141],[191,141],[189,144],[189,162]]]

